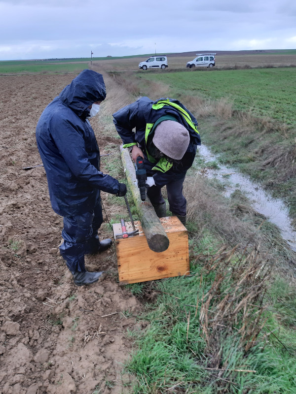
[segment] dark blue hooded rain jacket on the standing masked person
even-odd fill
[[[86,119],[89,106],[106,98],[103,76],[83,70],[42,112],[36,127],[53,210],[61,216],[90,212],[100,191],[117,194],[119,183],[100,171],[100,151]]]

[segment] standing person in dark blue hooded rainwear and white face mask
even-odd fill
[[[63,216],[60,253],[77,286],[96,282],[101,272],[85,269],[84,255],[112,244],[100,241],[103,223],[100,191],[117,197],[126,185],[100,171],[100,150],[89,119],[106,98],[103,76],[85,69],[42,112],[36,127],[53,210]]]

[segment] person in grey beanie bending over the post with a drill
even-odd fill
[[[200,145],[194,116],[179,100],[141,97],[115,112],[113,123],[134,162],[144,159],[147,195],[157,216],[167,216],[161,193],[166,185],[169,209],[185,225],[183,183]]]

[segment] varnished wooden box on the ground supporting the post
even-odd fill
[[[188,234],[176,216],[159,218],[170,244],[164,252],[153,252],[142,230],[135,222],[139,235],[115,239],[115,249],[120,283],[137,283],[189,274]],[[126,222],[126,230],[132,224]],[[115,234],[121,233],[120,223],[113,224]]]

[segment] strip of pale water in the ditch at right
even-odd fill
[[[205,162],[218,159],[218,156],[215,156],[205,145],[198,147],[198,150]],[[243,192],[251,200],[253,208],[281,230],[282,237],[296,252],[296,231],[291,225],[289,211],[283,201],[271,197],[259,184],[240,174],[237,169],[222,164],[219,164],[219,168],[208,169],[206,176],[222,181],[225,197],[229,197],[235,190]]]

